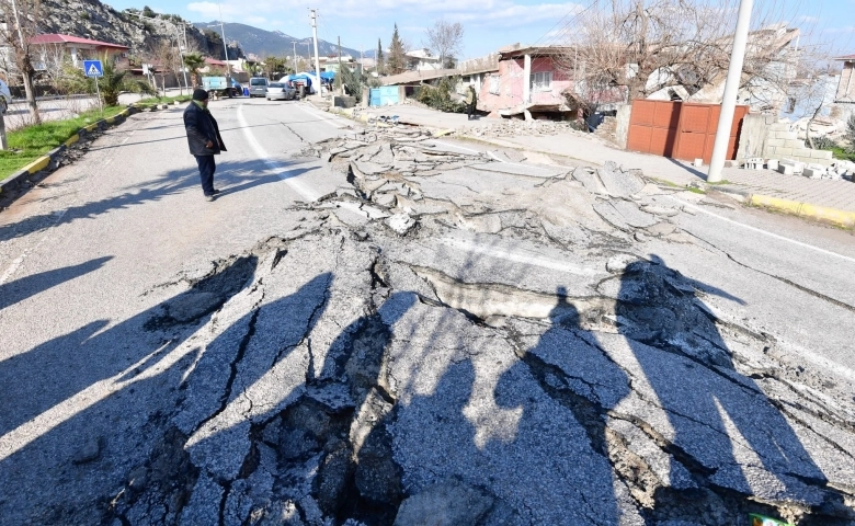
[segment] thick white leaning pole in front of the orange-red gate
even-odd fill
[[[721,113],[718,116],[716,142],[713,145],[713,159],[709,161],[709,172],[707,173],[708,183],[721,181],[721,170],[725,168],[725,157],[730,142],[730,128],[733,126],[733,113],[737,110],[739,84],[742,81],[742,64],[745,60],[745,45],[748,44],[753,4],[754,0],[740,0],[737,32],[733,34],[733,50],[730,53],[730,68],[728,68],[728,79],[725,81],[725,95],[721,99]]]

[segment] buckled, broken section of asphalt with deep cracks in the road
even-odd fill
[[[651,254],[705,249],[637,171],[304,155],[340,187],[303,228],[168,285],[193,359],[102,524],[855,524],[852,385]]]

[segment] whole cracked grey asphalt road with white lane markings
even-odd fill
[[[172,110],[0,214],[3,523],[855,524],[851,235],[212,110],[213,204]]]

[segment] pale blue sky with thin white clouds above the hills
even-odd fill
[[[225,22],[277,30],[297,38],[311,36],[308,8],[314,7],[319,14],[318,37],[328,42],[341,37],[343,46],[366,50],[376,49],[378,38],[387,48],[396,23],[411,48],[426,47],[426,28],[445,20],[463,24],[460,55],[476,58],[514,43],[560,44],[567,38],[565,27],[573,16],[597,0],[327,0],[315,5],[282,0],[232,0],[221,5],[216,0],[147,1],[104,3],[117,10],[148,4],[158,13],[179,14],[191,22],[219,20],[221,8]],[[855,0],[755,0],[755,13],[759,9],[774,11],[777,22],[800,27],[808,42],[824,44],[835,54],[855,54]]]

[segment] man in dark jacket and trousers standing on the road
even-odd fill
[[[208,111],[207,91],[201,89],[193,91],[193,100],[184,110],[184,128],[187,130],[190,152],[196,158],[198,164],[205,201],[214,201],[214,195],[219,193],[219,190],[214,188],[214,171],[217,169],[214,156],[226,151],[226,145],[219,136],[217,121]]]

